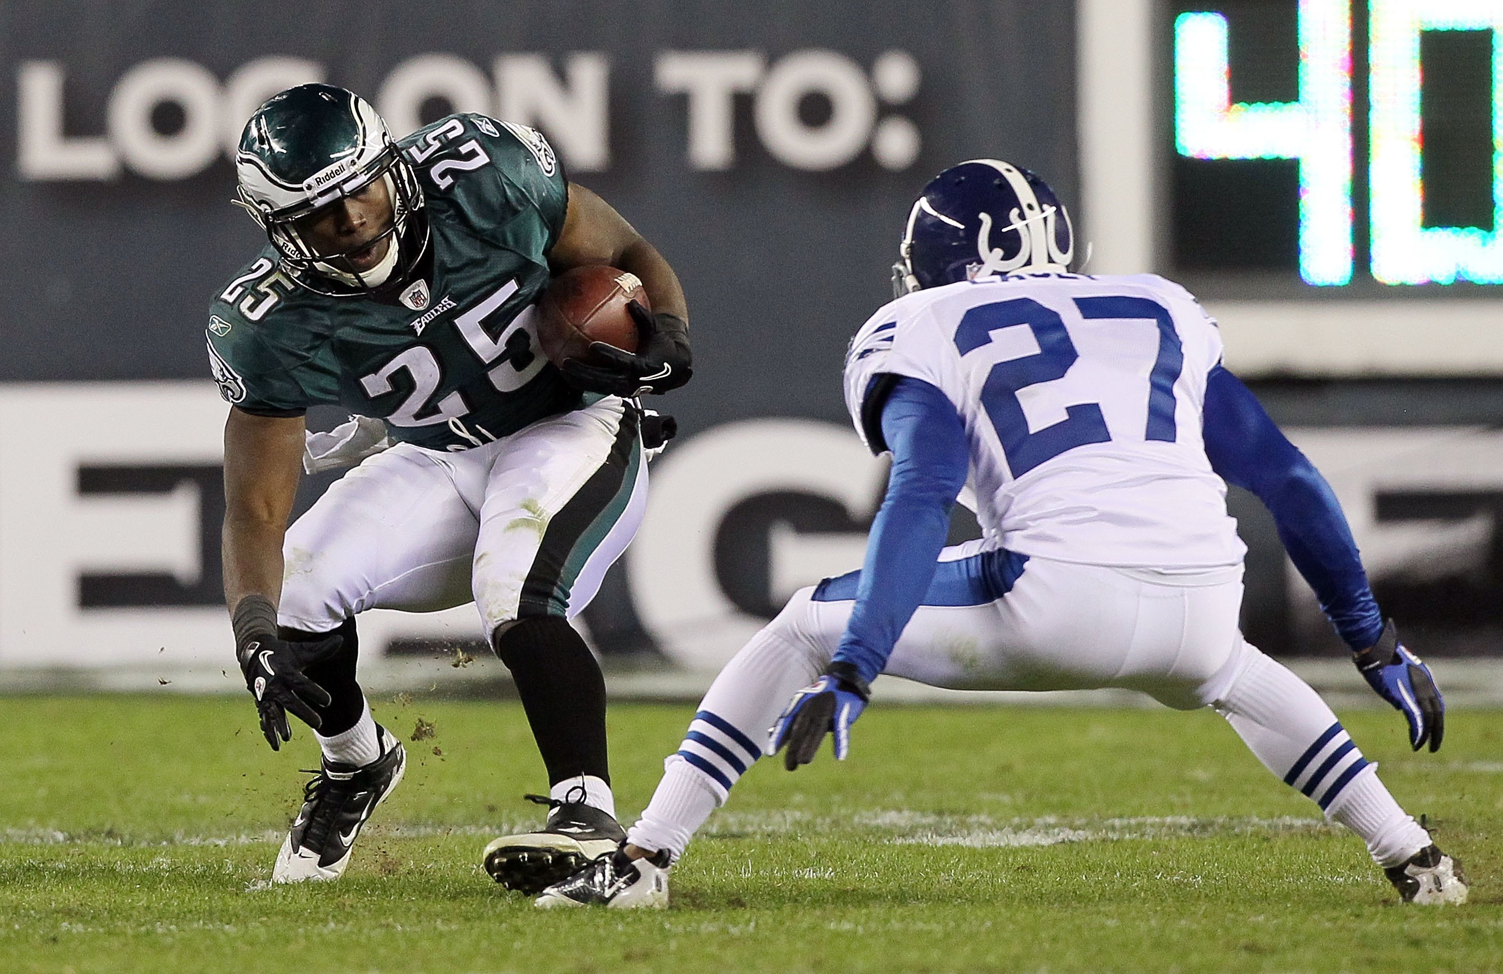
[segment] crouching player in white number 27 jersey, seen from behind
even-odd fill
[[[846,358],[857,431],[893,454],[864,567],[798,592],[747,643],[627,843],[540,906],[664,905],[667,869],[747,767],[786,749],[794,770],[831,732],[845,758],[884,672],[1213,706],[1273,774],[1366,842],[1404,900],[1465,900],[1458,864],[1324,700],[1237,625],[1244,547],[1226,482],[1273,511],[1359,669],[1408,718],[1413,747],[1440,747],[1441,696],[1378,613],[1329,485],[1220,365],[1216,323],[1184,289],[1070,274],[1072,253],[1069,216],[1033,173],[978,159],[924,188],[894,268],[899,296]],[[944,549],[962,493],[983,538]]]

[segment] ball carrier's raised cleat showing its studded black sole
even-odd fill
[[[627,840],[627,830],[582,801],[528,795],[550,806],[547,824],[535,833],[502,836],[485,846],[485,872],[519,893],[535,894],[585,869]]]

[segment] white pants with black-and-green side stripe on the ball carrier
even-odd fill
[[[287,529],[278,622],[323,633],[367,609],[473,598],[485,637],[574,618],[646,507],[637,415],[607,397],[470,449],[398,443],[334,482]]]

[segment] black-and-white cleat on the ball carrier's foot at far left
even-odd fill
[[[325,761],[313,780],[304,785],[302,809],[287,833],[272,882],[338,879],[350,864],[350,849],[365,819],[401,782],[407,753],[401,741],[377,724],[382,756],[358,768]]]

